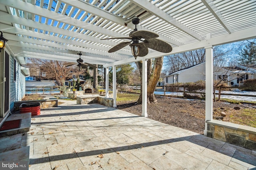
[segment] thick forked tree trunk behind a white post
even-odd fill
[[[154,91],[156,88],[156,84],[160,78],[160,73],[162,70],[162,66],[163,66],[163,61],[164,61],[164,57],[159,57],[154,59],[154,65],[152,67],[152,59],[148,60],[148,68],[147,68],[147,80],[148,80],[148,84],[147,84],[147,101],[148,103],[155,103],[157,102],[155,96],[154,96]],[[136,65],[138,66],[139,70],[140,70],[140,97],[138,99],[138,104],[142,104],[142,61],[140,62],[136,62]]]

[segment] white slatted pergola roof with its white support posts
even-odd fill
[[[128,37],[135,17],[140,18],[138,30],[157,33],[172,52],[149,49],[135,60],[127,45],[108,53],[128,40],[100,39]],[[85,63],[106,68],[106,84],[113,67],[114,107],[116,66],[142,61],[145,117],[147,59],[205,48],[206,120],[212,120],[212,47],[256,38],[256,0],[0,0],[0,30],[21,64],[26,57],[76,62],[81,51]]]

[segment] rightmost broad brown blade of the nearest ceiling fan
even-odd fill
[[[172,51],[172,46],[160,39],[145,39],[144,45],[150,49],[160,51],[162,53],[170,53]]]

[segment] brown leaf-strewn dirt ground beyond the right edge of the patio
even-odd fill
[[[205,101],[201,100],[184,100],[178,98],[170,98],[156,96],[157,103],[147,105],[148,118],[160,121],[169,125],[187,129],[196,133],[203,134],[205,126]],[[234,109],[236,107],[236,109]],[[136,115],[141,115],[142,105],[133,103],[117,103],[117,108]],[[240,108],[240,109],[238,109]],[[244,114],[244,110],[249,110],[250,115]],[[224,102],[214,102],[213,104],[214,119],[220,117],[220,113],[226,113],[223,121],[244,124],[248,121],[252,126],[256,125],[256,107],[244,104],[228,104]]]

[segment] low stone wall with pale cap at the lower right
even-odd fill
[[[256,150],[256,128],[219,120],[206,121],[207,136]]]

